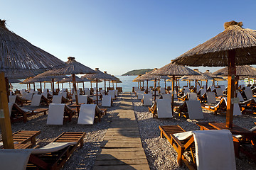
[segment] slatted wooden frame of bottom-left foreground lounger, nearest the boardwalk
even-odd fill
[[[78,145],[80,147],[83,146],[84,137],[85,132],[63,132],[52,142],[76,142],[76,144],[65,147],[58,152],[31,154],[27,167],[36,169],[60,169],[68,161]]]

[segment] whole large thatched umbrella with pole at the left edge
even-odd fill
[[[0,20],[0,49],[0,91],[2,91],[0,109],[4,111],[0,119],[1,134],[4,148],[13,149],[14,140],[11,132],[4,73],[20,72],[23,75],[19,74],[21,77],[16,78],[27,78],[31,76],[26,74],[28,72],[43,72],[46,69],[63,67],[65,63],[11,32],[6,28],[4,20]]]

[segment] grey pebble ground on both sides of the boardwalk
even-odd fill
[[[107,108],[107,114],[102,117],[101,122],[94,125],[78,125],[77,116],[71,122],[65,122],[64,125],[46,125],[47,115],[43,113],[33,115],[28,118],[27,123],[12,123],[12,131],[17,130],[41,130],[41,134],[36,138],[36,144],[40,147],[48,144],[62,132],[86,132],[84,146],[78,148],[72,157],[63,166],[63,169],[93,169],[97,152],[103,141],[107,129],[110,127],[112,113],[119,106],[122,100],[120,95],[111,108]],[[209,111],[203,110],[203,120],[189,120],[178,117],[174,114],[174,118],[156,119],[148,112],[148,107],[142,106],[142,102],[137,96],[132,94],[132,103],[134,106],[134,114],[139,125],[139,133],[142,140],[142,147],[146,154],[146,159],[150,169],[187,169],[185,165],[179,167],[176,163],[176,151],[171,147],[166,139],[160,137],[159,125],[180,125],[184,130],[200,130],[196,123],[200,122],[225,122],[225,116],[213,115]],[[250,129],[254,127],[256,115],[240,115],[234,117],[233,123],[240,125],[242,128]],[[236,158],[237,169],[256,169],[255,162],[247,159],[245,155],[240,154],[240,158]]]

